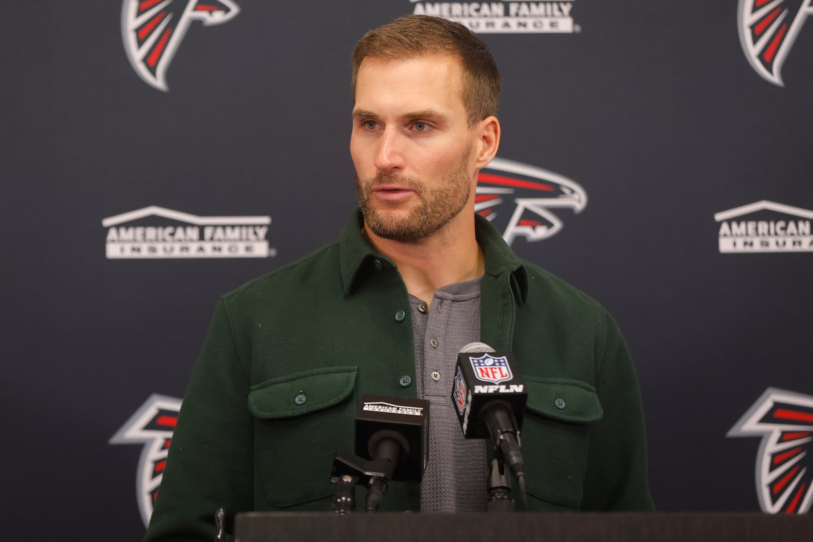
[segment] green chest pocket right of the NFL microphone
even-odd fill
[[[528,506],[579,509],[587,470],[590,424],[601,420],[593,386],[572,379],[525,377],[528,406],[522,453]]]

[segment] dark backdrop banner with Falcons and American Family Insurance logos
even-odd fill
[[[659,509],[810,508],[811,0],[17,2],[17,539],[140,540],[218,297],[354,208],[350,51],[406,13],[493,51],[503,137],[477,210],[620,323]]]

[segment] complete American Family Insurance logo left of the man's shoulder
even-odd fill
[[[197,216],[149,206],[102,220],[108,259],[267,258],[270,216]]]

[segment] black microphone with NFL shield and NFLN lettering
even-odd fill
[[[496,353],[489,345],[470,343],[458,354],[452,401],[463,436],[490,437],[520,483],[524,496],[525,469],[520,453],[520,428],[528,392],[510,352]]]

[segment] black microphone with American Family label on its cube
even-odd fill
[[[355,454],[367,462],[367,512],[388,482],[420,483],[429,458],[429,401],[364,395],[355,418]]]

